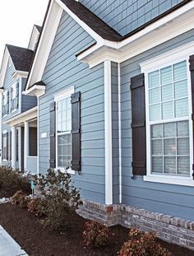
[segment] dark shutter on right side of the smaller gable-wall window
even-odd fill
[[[81,170],[81,93],[75,92],[72,100],[72,170]]]

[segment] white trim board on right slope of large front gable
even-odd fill
[[[81,21],[61,0],[55,0],[58,2],[58,5],[62,7],[62,9],[67,12],[69,16],[72,16],[74,21],[76,21],[86,32],[88,32],[89,35],[91,35],[96,41],[99,43],[103,43],[103,38],[98,35],[94,30],[90,28],[90,26],[87,26],[85,22]]]

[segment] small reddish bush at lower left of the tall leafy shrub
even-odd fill
[[[43,198],[32,198],[27,205],[28,212],[32,212],[35,216],[44,216],[47,208],[47,201]]]

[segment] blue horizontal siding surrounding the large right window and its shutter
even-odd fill
[[[131,77],[141,73],[139,63],[191,41],[194,41],[194,30],[121,63],[122,203],[194,220],[193,187],[151,183],[143,181],[143,178],[138,176],[132,179],[132,105],[130,92]]]

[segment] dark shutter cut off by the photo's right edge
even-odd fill
[[[189,69],[191,72],[191,83],[192,83],[192,123],[194,122],[194,55],[189,57]],[[194,123],[192,125],[193,131],[194,131]],[[192,141],[194,142],[194,133],[193,133],[193,138]],[[194,143],[193,143],[193,147],[194,147]],[[193,156],[192,156],[192,170],[193,170],[193,174],[192,177],[194,179],[194,151],[193,151]]]

